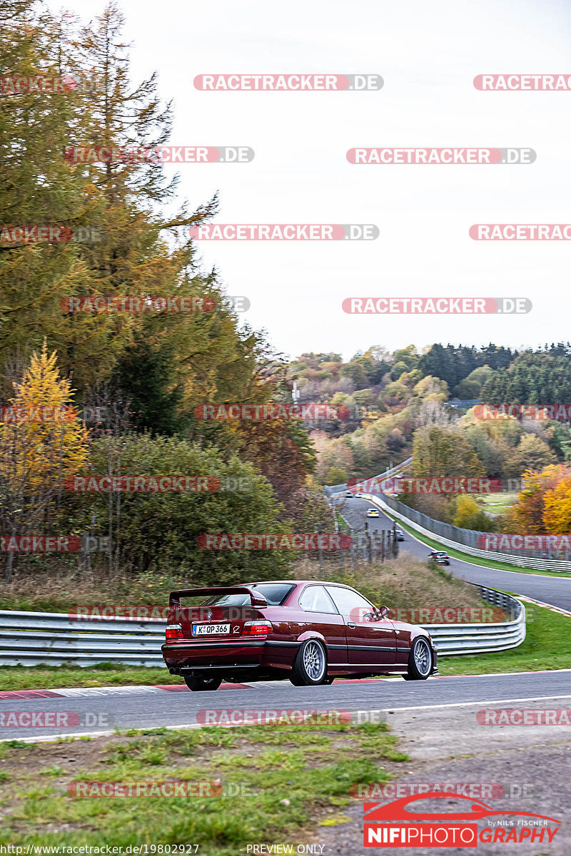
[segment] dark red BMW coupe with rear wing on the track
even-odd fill
[[[190,598],[200,605],[185,606]],[[315,580],[171,591],[164,662],[191,690],[286,677],[296,687],[390,674],[424,681],[437,671],[430,634],[388,613]]]

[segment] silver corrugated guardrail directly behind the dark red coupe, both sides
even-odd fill
[[[478,586],[480,594],[510,615],[490,624],[422,625],[434,639],[438,654],[479,654],[505,651],[526,638],[526,608],[501,591]],[[164,667],[160,647],[166,621],[125,621],[112,617],[90,621],[65,613],[0,610],[0,666],[64,664],[92,666],[126,663]]]

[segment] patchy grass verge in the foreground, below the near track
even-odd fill
[[[382,723],[128,731],[60,743],[0,744],[0,843],[56,847],[309,843],[346,823],[359,783],[388,782],[407,756]],[[222,795],[70,796],[74,782],[213,782]],[[77,785],[75,785],[77,787]],[[108,786],[109,787],[109,786]],[[200,791],[197,791],[200,793]],[[84,791],[89,793],[89,790]],[[97,794],[98,788],[92,793]],[[164,851],[163,851],[164,852]],[[185,849],[185,853],[195,852]]]

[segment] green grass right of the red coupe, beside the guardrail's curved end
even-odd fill
[[[533,603],[525,606],[526,639],[519,647],[489,654],[441,657],[438,659],[440,674],[489,675],[571,669],[571,618]]]

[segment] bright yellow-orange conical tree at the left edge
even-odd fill
[[[57,353],[33,352],[14,384],[0,424],[0,464],[11,490],[22,496],[59,490],[88,457],[88,431],[72,404],[71,383],[59,376]]]

